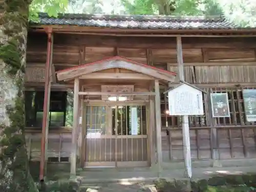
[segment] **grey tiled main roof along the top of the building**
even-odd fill
[[[71,25],[120,29],[236,29],[222,17],[59,14],[39,13],[40,25]]]

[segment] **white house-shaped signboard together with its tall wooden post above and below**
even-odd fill
[[[183,157],[185,176],[192,177],[188,115],[203,115],[202,90],[184,82],[184,63],[181,37],[177,37],[177,60],[180,81],[176,88],[168,90],[169,115],[182,117]]]

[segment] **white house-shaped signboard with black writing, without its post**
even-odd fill
[[[187,84],[168,92],[169,115],[204,115],[203,94]]]

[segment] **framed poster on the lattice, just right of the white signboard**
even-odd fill
[[[211,93],[212,117],[230,117],[227,93]]]

